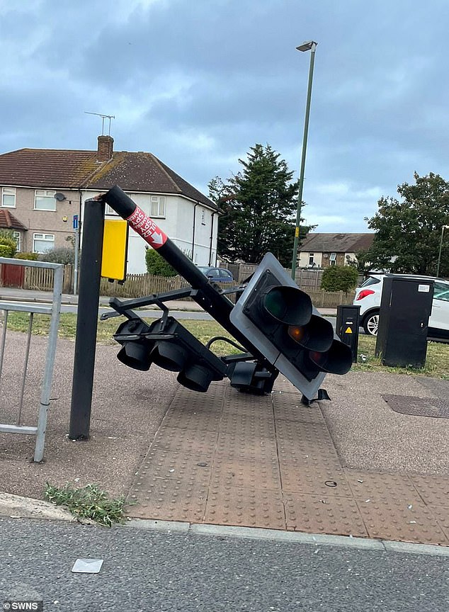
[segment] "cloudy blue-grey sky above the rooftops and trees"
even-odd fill
[[[364,232],[397,185],[449,179],[447,0],[0,0],[0,153],[155,154],[208,195],[256,142],[299,174],[304,216]],[[105,123],[108,133],[108,120]]]

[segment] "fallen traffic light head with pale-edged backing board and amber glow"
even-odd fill
[[[312,307],[275,256],[267,253],[234,306],[230,320],[267,361],[312,399],[326,373],[351,369],[348,346]]]

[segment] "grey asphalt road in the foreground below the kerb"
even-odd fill
[[[449,557],[0,519],[0,604],[61,611],[447,612]],[[103,559],[74,574],[77,558]]]

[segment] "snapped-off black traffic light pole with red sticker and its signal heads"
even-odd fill
[[[273,254],[266,254],[234,305],[226,297],[227,292],[198,270],[120,187],[113,187],[98,200],[108,203],[191,283],[188,295],[248,351],[217,358],[168,316],[163,302],[170,297],[176,299],[176,292],[127,301],[114,298],[110,305],[128,319],[114,334],[122,344],[118,358],[125,365],[147,370],[151,363],[157,363],[178,371],[178,382],[197,391],[206,391],[212,380],[227,376],[239,390],[271,392],[281,372],[302,392],[305,403],[315,395],[320,397],[319,387],[326,373],[346,374],[351,369],[351,350],[334,334],[331,323],[312,307],[310,297],[297,287]],[[162,305],[164,310],[161,319],[152,325],[132,312],[132,307],[149,303]],[[325,392],[321,397],[326,397]]]

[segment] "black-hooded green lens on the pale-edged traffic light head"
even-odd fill
[[[272,287],[263,297],[263,307],[272,317],[288,325],[305,325],[312,317],[310,297],[295,287]]]

